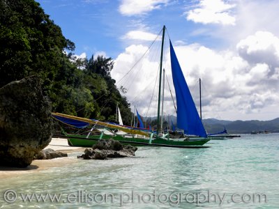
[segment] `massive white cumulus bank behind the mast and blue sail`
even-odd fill
[[[126,75],[146,49],[144,45],[131,45],[116,58],[112,70],[116,82]],[[205,118],[219,116],[223,119],[240,117],[255,119],[254,115],[251,116],[255,113],[259,118],[276,117],[272,112],[266,113],[266,108],[276,108],[275,104],[279,102],[278,38],[272,33],[257,31],[254,35],[240,40],[235,51],[216,51],[197,43],[182,45],[182,42],[174,46],[174,49],[197,105],[199,104],[198,79],[202,78]],[[165,54],[164,68],[172,86],[169,54]],[[141,68],[130,71],[121,84],[118,84],[128,86],[126,96],[141,112],[145,113],[149,106],[157,72],[158,62],[151,61],[149,55],[144,57]],[[149,91],[146,90],[146,85],[149,86]],[[174,88],[171,88],[174,93]],[[165,92],[166,114],[174,114],[169,91]],[[156,113],[155,106],[150,114]],[[266,114],[263,116],[262,112]],[[222,116],[223,113],[226,115]]]

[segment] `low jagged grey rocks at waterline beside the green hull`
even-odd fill
[[[127,145],[123,146],[119,141],[114,139],[100,139],[92,148],[86,148],[84,154],[78,156],[84,160],[107,160],[116,157],[135,156],[136,147]]]

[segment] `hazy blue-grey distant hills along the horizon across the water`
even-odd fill
[[[176,116],[169,116],[172,118],[174,125],[176,124]],[[152,117],[151,120],[156,120]],[[206,132],[209,134],[221,132],[226,128],[229,134],[250,134],[251,132],[269,131],[279,132],[279,118],[271,121],[224,121],[215,118],[208,118],[202,120]]]

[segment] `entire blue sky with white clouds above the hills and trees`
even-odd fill
[[[276,0],[39,0],[77,56],[114,59],[118,82],[162,29],[167,31],[190,90],[202,78],[204,118],[270,120],[279,117],[279,2]],[[169,61],[166,58],[166,63]],[[166,64],[166,67],[169,63]],[[151,56],[126,97],[146,112],[156,75]],[[167,72],[168,74],[168,72]],[[174,91],[174,90],[173,90]],[[142,93],[143,92],[143,93]],[[140,94],[141,93],[141,94]],[[192,93],[192,94],[194,94]],[[138,96],[135,99],[135,95]],[[166,95],[166,112],[172,101]],[[194,95],[194,98],[197,96]]]

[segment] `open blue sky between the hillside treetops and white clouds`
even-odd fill
[[[187,8],[195,1],[154,1],[159,8],[135,15],[121,13],[121,1],[109,0],[40,0],[38,1],[55,24],[61,26],[63,35],[75,42],[75,54],[86,52],[87,56],[105,52],[116,58],[128,42],[123,36],[129,31],[141,29],[158,33],[163,24],[171,31],[172,40],[200,42],[218,48],[222,40],[209,38],[201,33],[193,36],[199,25],[186,20]],[[150,1],[152,2],[152,1]],[[160,3],[166,2],[166,3]],[[206,30],[203,26],[203,30]],[[222,46],[221,46],[222,47]]]

